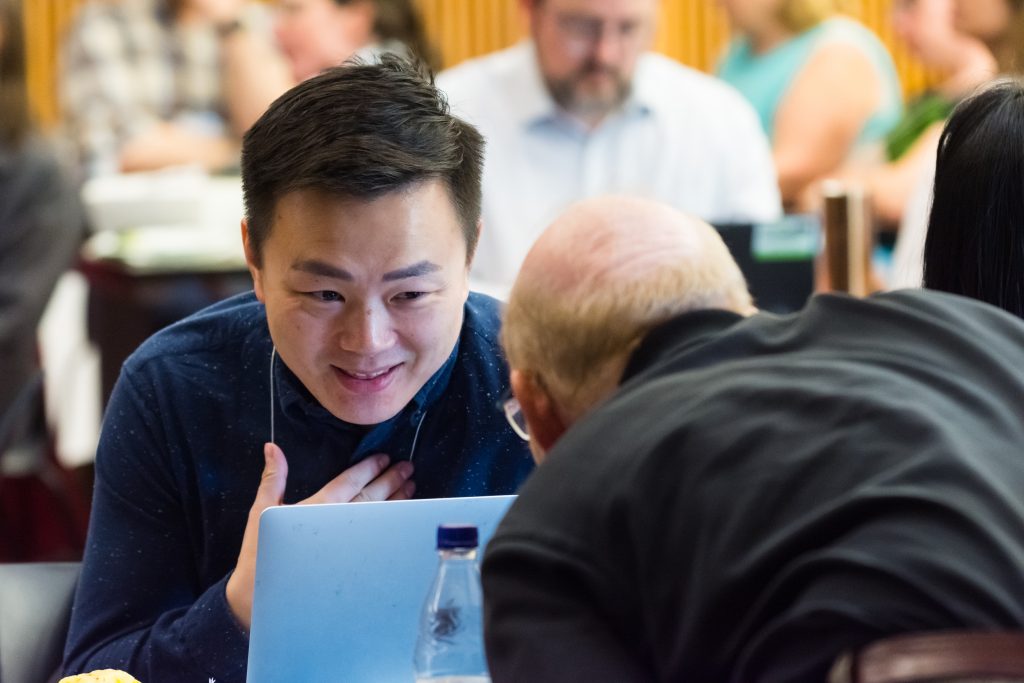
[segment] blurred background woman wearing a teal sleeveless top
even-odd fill
[[[899,119],[902,92],[882,42],[837,14],[838,0],[720,0],[738,37],[719,76],[754,105],[771,138],[787,208]]]

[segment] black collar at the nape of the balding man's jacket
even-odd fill
[[[620,384],[663,361],[693,350],[742,319],[742,315],[729,310],[707,309],[682,313],[666,321],[648,332],[633,351]]]

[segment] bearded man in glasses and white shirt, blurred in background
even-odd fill
[[[607,193],[716,222],[780,205],[764,133],[720,81],[652,54],[658,0],[523,0],[530,40],[442,73],[438,86],[487,140],[473,276],[507,292],[565,207]]]

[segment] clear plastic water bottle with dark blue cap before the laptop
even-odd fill
[[[475,526],[437,527],[440,562],[420,614],[413,656],[417,683],[490,681],[483,654],[483,591],[476,547]]]

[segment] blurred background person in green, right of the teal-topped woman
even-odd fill
[[[903,217],[953,106],[997,70],[984,43],[954,28],[953,0],[900,0],[893,5],[892,18],[896,35],[909,51],[943,79],[907,102],[903,117],[886,136],[885,163],[854,163],[836,175],[861,183],[870,195],[874,218],[887,226],[897,226]]]

